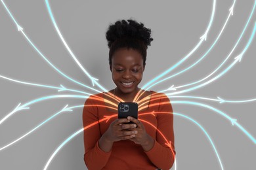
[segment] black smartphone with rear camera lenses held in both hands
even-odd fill
[[[118,118],[127,118],[128,116],[138,119],[138,103],[121,102],[118,104]],[[133,122],[127,124],[133,124]]]

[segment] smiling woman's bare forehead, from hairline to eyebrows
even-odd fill
[[[112,57],[113,65],[142,65],[143,58],[137,50],[121,48]]]

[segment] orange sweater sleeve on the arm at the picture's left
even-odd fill
[[[83,140],[85,145],[84,161],[88,169],[102,169],[110,158],[110,152],[104,152],[98,146],[101,137],[98,124],[96,97],[90,96],[83,107]]]

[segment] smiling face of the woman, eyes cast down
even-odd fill
[[[137,50],[120,48],[112,56],[112,79],[122,93],[137,92],[144,71],[143,59]]]

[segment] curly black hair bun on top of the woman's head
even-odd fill
[[[111,24],[106,32],[109,48],[117,39],[124,37],[139,39],[143,41],[146,46],[150,46],[150,42],[153,41],[150,36],[151,29],[144,27],[144,24],[139,24],[135,20],[118,20],[115,24]]]

